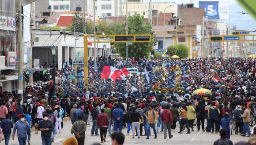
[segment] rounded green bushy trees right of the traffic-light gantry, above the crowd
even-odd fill
[[[188,57],[188,47],[184,44],[171,45],[167,47],[167,52],[171,58],[173,55],[177,55],[180,58]]]

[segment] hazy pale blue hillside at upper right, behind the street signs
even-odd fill
[[[240,14],[237,12],[246,11],[240,4],[230,5],[230,19],[228,24],[230,28],[233,28],[233,25],[237,25],[237,30],[243,29],[256,29],[256,19],[253,18],[250,14]]]

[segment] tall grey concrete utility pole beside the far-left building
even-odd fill
[[[23,48],[22,48],[22,14],[21,14],[21,0],[18,0],[18,48],[19,48],[19,89],[18,101],[23,104]]]

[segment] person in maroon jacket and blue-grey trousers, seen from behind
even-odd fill
[[[169,109],[170,109],[170,106],[166,105],[164,111],[161,114],[161,119],[163,122],[163,130],[164,130],[164,139],[166,139],[167,137],[167,130],[168,130],[169,138],[173,137],[173,135],[171,134],[171,125],[173,124],[173,115]]]

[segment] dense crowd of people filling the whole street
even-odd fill
[[[111,58],[109,58],[111,59]],[[110,62],[110,60],[107,61]],[[139,69],[139,75],[128,75],[124,80],[113,82],[101,79],[104,59],[99,59],[96,68],[89,61],[89,90],[76,86],[69,75],[75,73],[72,65],[63,65],[56,71],[56,103],[53,104],[53,81],[38,81],[27,86],[23,92],[23,103],[18,101],[15,91],[0,94],[0,121],[5,144],[18,131],[20,145],[30,144],[30,128],[36,133],[41,130],[43,145],[54,142],[61,134],[63,118],[69,116],[73,126],[71,132],[79,145],[84,145],[85,130],[91,125],[91,135],[100,134],[105,142],[106,135],[127,128],[125,134],[132,138],[172,138],[173,131],[187,134],[202,130],[220,133],[219,141],[230,142],[230,122],[236,123],[235,134],[254,137],[249,123],[256,110],[256,60],[247,58],[200,58],[200,59],[146,59],[132,58],[129,63],[115,59],[114,66]],[[168,75],[162,78],[163,67]],[[178,70],[175,69],[179,66]],[[147,70],[147,72],[145,71]],[[177,87],[177,71],[180,86]],[[83,70],[81,72],[83,78]],[[148,76],[148,77],[146,77]],[[164,80],[159,84],[159,80]],[[83,83],[83,79],[82,79]],[[152,88],[164,88],[161,91]],[[206,88],[210,94],[193,94],[199,88]],[[256,114],[256,113],[254,113]],[[206,123],[205,123],[206,120]],[[15,125],[13,124],[15,123]],[[180,128],[177,128],[177,123]],[[206,124],[206,127],[205,127]],[[151,128],[153,132],[151,132]],[[226,135],[225,135],[226,134]],[[224,138],[224,139],[223,139]],[[222,141],[222,142],[223,142]],[[215,141],[216,142],[216,141]],[[255,145],[254,139],[249,139]],[[214,145],[218,145],[214,143]]]

